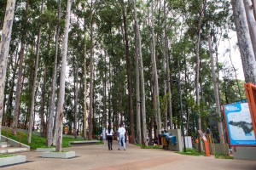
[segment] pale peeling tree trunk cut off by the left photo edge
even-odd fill
[[[3,119],[3,99],[4,88],[6,79],[7,61],[9,55],[9,42],[11,40],[11,33],[13,28],[13,21],[15,15],[15,0],[8,0],[6,4],[6,10],[3,21],[3,33],[0,44],[0,140],[1,140],[1,128]]]

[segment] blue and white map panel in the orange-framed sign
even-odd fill
[[[247,103],[224,105],[230,145],[256,145],[252,117]]]

